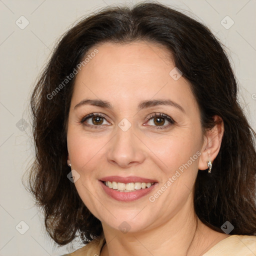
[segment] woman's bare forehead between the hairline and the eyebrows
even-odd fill
[[[73,97],[77,100],[86,96],[128,104],[153,97],[177,101],[191,98],[188,82],[182,76],[178,80],[171,77],[175,65],[171,53],[162,45],[107,42],[93,46],[85,57],[87,62],[74,84]]]

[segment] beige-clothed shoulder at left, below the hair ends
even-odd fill
[[[104,242],[105,238],[103,234],[101,234],[99,237],[93,239],[85,246],[63,256],[99,256],[100,249],[103,246]]]

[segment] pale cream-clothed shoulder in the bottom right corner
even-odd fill
[[[256,236],[230,235],[210,248],[203,256],[256,255]]]

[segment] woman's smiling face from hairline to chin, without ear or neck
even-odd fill
[[[76,76],[68,117],[81,199],[102,224],[127,231],[193,211],[203,134],[188,82],[156,44],[104,43],[87,55],[95,48]]]

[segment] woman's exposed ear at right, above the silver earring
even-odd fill
[[[213,162],[216,158],[219,148],[221,145],[223,133],[224,133],[224,123],[220,116],[213,116],[215,125],[210,130],[207,130],[203,137],[203,145],[201,148],[201,155],[198,162],[198,169],[207,169],[207,161]]]

